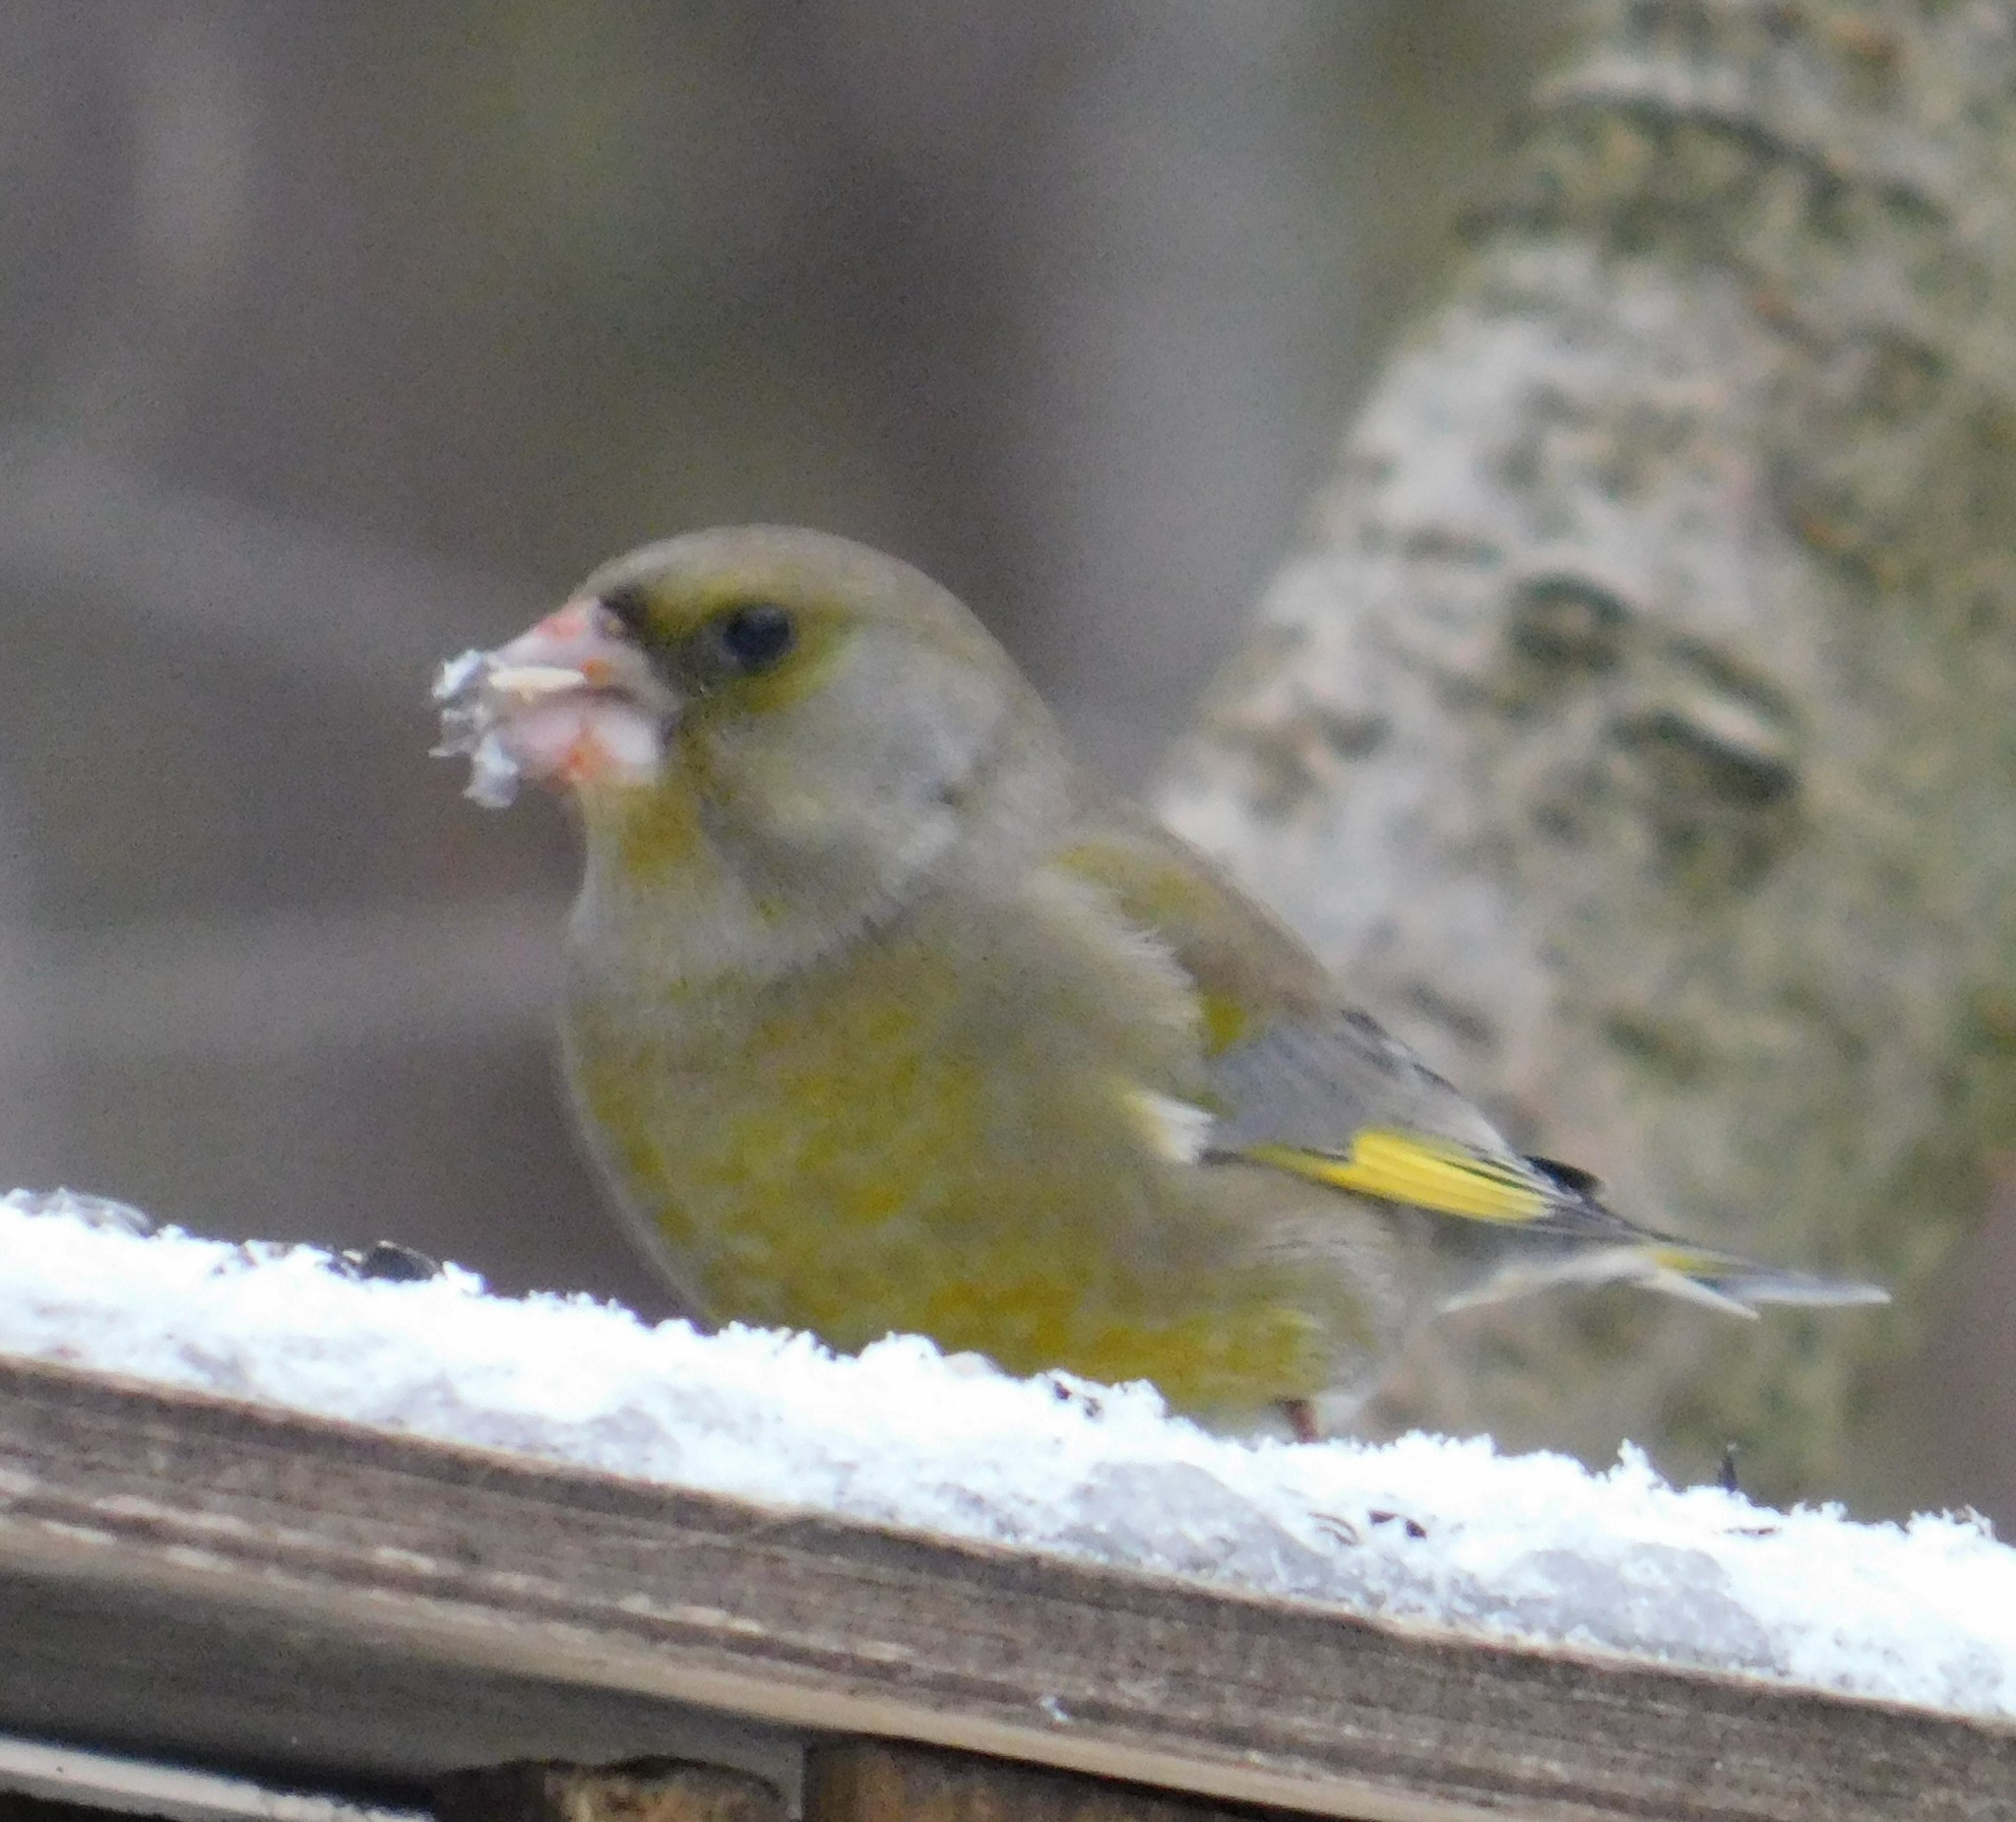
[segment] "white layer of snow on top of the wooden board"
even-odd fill
[[[133,1231],[0,1197],[0,1352],[1288,1594],[1470,1635],[2016,1715],[2016,1550],[1976,1518],[1855,1524],[1490,1441],[1232,1441],[1147,1387],[1014,1381],[893,1336],[647,1328],[450,1266],[363,1282],[310,1248]]]

